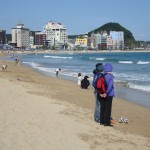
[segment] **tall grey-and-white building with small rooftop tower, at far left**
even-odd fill
[[[16,28],[12,28],[12,44],[20,49],[30,47],[29,29],[24,28],[24,24],[17,24]]]

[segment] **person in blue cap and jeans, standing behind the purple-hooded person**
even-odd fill
[[[93,70],[93,82],[92,82],[92,86],[94,87],[94,95],[95,95],[95,111],[94,111],[94,120],[98,123],[100,123],[100,101],[98,99],[97,96],[97,89],[96,89],[96,83],[98,78],[101,77],[103,70],[104,70],[104,66],[102,65],[102,63],[98,63],[96,64],[96,69]]]

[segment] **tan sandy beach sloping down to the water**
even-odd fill
[[[114,98],[114,127],[94,122],[93,89],[23,65],[0,70],[0,150],[149,150],[150,109]],[[127,117],[128,124],[119,123]]]

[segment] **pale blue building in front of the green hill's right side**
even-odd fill
[[[123,31],[110,31],[110,37],[113,41],[113,49],[124,49]]]

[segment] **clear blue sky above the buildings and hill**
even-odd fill
[[[150,41],[150,0],[2,0],[0,29],[9,34],[20,21],[31,31],[43,31],[48,21],[60,22],[68,35],[115,22],[135,40]]]

